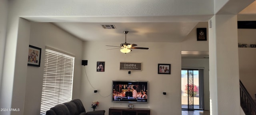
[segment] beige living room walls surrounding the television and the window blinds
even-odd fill
[[[194,38],[196,37],[190,36],[189,39]],[[58,44],[57,42],[61,43]],[[69,47],[66,46],[67,43],[70,44]],[[109,95],[112,94],[112,80],[140,80],[149,81],[150,91],[148,96],[150,100],[148,104],[135,104],[135,107],[151,108],[154,115],[166,114],[167,111],[164,111],[166,109],[172,109],[173,114],[180,114],[181,112],[180,106],[177,106],[181,103],[181,50],[179,50],[181,49],[181,43],[138,42],[134,44],[138,44],[140,47],[148,47],[149,50],[134,49],[128,54],[122,54],[118,49],[106,50],[108,47],[105,45],[116,46],[116,44],[120,44],[119,42],[84,42],[82,44],[80,40],[66,34],[52,24],[31,23],[29,44],[42,48],[41,65],[44,63],[45,46],[77,56],[74,69],[73,99],[82,99],[86,111],[92,111],[90,104],[95,100],[100,101],[100,106],[97,109],[104,109],[106,113],[108,113],[109,107],[126,107],[127,103],[111,102],[111,96]],[[82,66],[80,63],[82,59],[88,60],[88,65]],[[105,61],[105,72],[96,72],[97,61]],[[142,71],[132,71],[128,75],[128,71],[119,70],[120,61],[142,62]],[[171,75],[157,74],[158,63],[170,63]],[[40,111],[43,66],[28,66],[27,74],[24,115],[38,114]],[[41,76],[38,74],[41,74]],[[87,77],[94,88],[88,83]],[[94,90],[98,90],[98,93],[93,93]],[[167,95],[163,95],[162,92],[166,92]],[[34,101],[31,101],[31,99]],[[160,107],[159,104],[164,106]],[[31,110],[31,108],[34,109]]]

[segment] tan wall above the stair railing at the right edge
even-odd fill
[[[238,43],[256,44],[256,29],[238,29]],[[247,91],[255,98],[255,68],[256,68],[256,48],[238,48],[239,54],[239,76]]]

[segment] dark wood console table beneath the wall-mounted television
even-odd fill
[[[110,107],[109,115],[150,115],[150,109],[133,108],[128,109],[124,107]]]

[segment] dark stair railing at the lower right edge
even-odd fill
[[[245,115],[256,115],[256,103],[240,80],[240,105]]]

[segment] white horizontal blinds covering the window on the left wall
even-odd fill
[[[40,115],[72,99],[74,57],[46,48]]]

